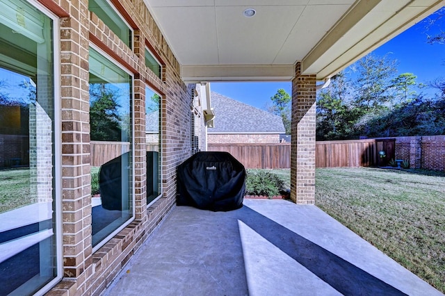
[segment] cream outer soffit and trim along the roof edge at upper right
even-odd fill
[[[376,5],[366,13],[367,3],[358,3],[355,7],[357,12],[350,11],[337,23],[303,59],[302,72],[316,73],[318,79],[332,76],[445,5],[442,0],[374,2]],[[372,1],[370,3],[373,4]],[[348,24],[348,20],[358,13],[364,13],[364,16],[355,24],[354,20]]]

